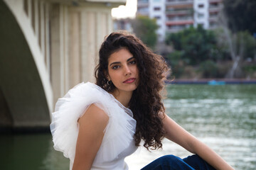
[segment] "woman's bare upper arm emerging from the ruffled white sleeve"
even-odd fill
[[[78,120],[79,132],[73,170],[89,170],[100,148],[109,117],[92,104]]]

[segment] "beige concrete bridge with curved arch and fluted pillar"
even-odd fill
[[[0,132],[48,128],[54,103],[93,81],[97,52],[126,0],[0,0]]]

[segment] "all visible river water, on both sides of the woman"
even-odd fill
[[[168,85],[166,113],[220,154],[235,169],[256,169],[255,85]],[[3,170],[69,169],[69,161],[53,149],[50,134],[0,135]],[[163,141],[163,149],[139,148],[127,157],[137,170],[165,154],[187,157],[182,147]]]

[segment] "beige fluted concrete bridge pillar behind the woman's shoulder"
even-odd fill
[[[100,45],[105,35],[113,30],[113,7],[91,2],[51,6],[50,69],[54,102],[82,81],[95,82]]]

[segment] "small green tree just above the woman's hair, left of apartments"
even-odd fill
[[[135,35],[137,35],[142,42],[154,49],[157,42],[156,30],[158,28],[156,19],[151,19],[147,16],[137,16],[137,18],[132,21],[132,28]]]

